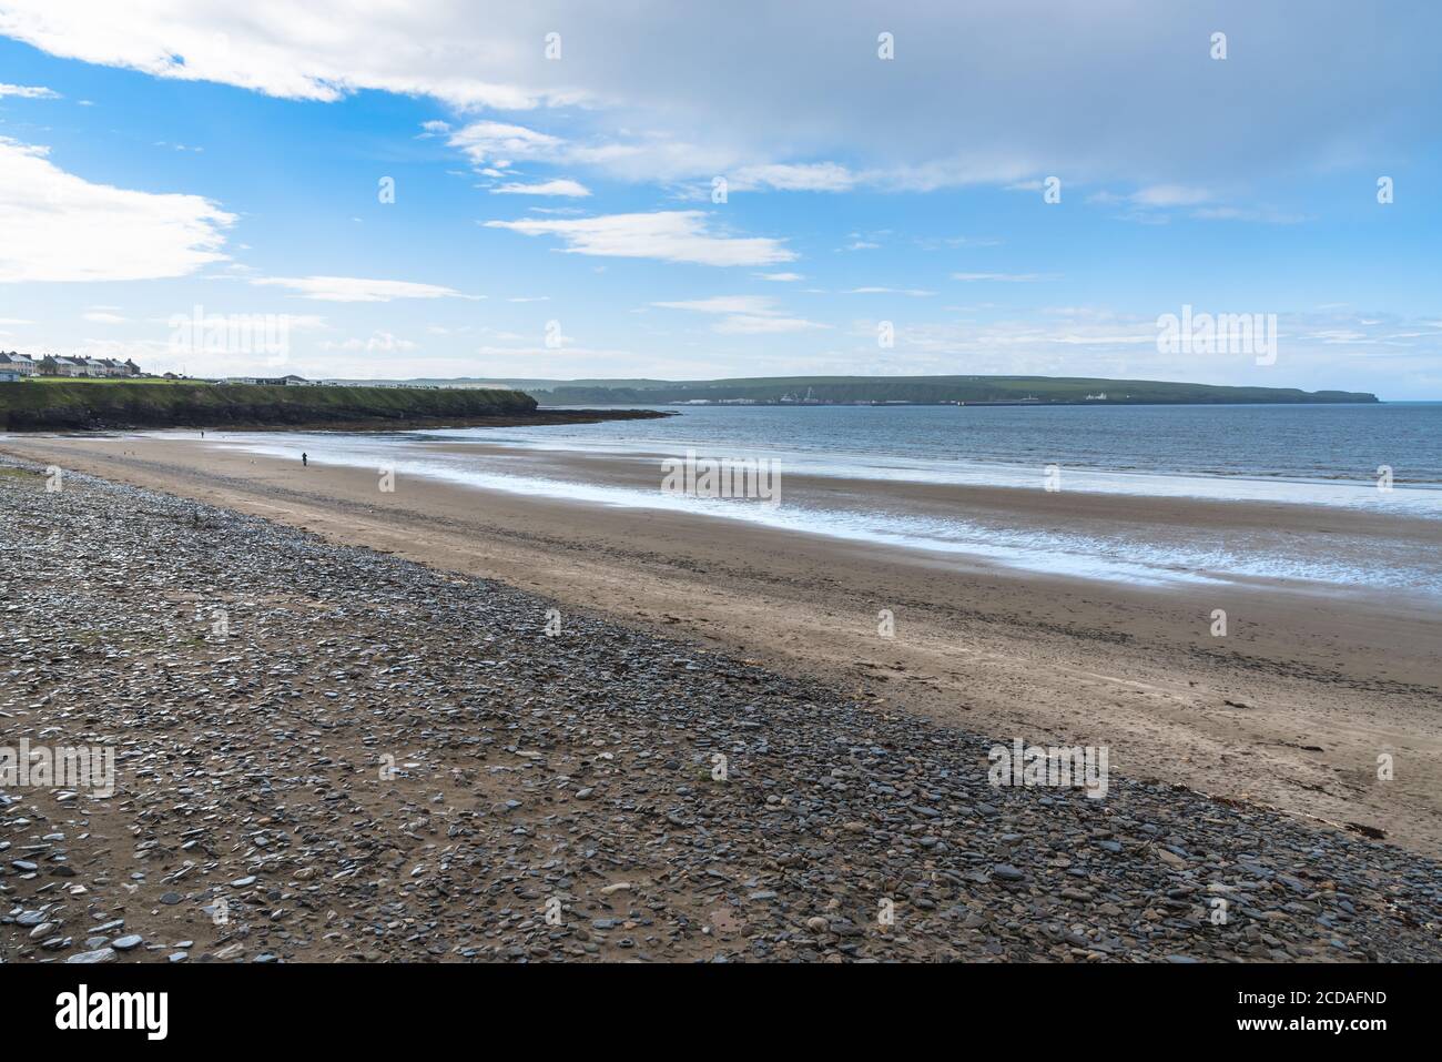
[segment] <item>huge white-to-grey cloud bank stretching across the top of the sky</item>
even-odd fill
[[[1069,185],[1145,175],[1167,188],[1433,141],[1436,108],[1425,101],[1438,95],[1438,13],[1412,13],[1399,33],[1358,25],[1354,6],[1315,0],[1305,26],[1272,4],[1229,6],[1229,32],[1266,63],[1229,63],[1206,107],[1195,65],[1206,58],[1195,42],[1216,29],[1206,6],[1061,4],[1038,22],[999,0],[924,4],[894,27],[893,63],[877,61],[875,6],[857,0],[777,6],[766,33],[724,6],[660,0],[536,0],[483,14],[460,0],[309,0],[303,13],[278,0],[242,10],[231,0],[4,0],[0,35],[286,98],[378,89],[464,111],[572,107],[557,127],[584,147],[568,150],[637,180],[756,167],[764,186],[823,190],[1047,173]],[[547,62],[545,33],[558,29],[564,62]],[[986,105],[966,105],[978,100]],[[1381,113],[1396,120],[1379,124]],[[695,130],[705,143],[692,143]],[[849,169],[815,162],[832,157]]]

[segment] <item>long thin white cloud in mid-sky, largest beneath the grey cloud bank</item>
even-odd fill
[[[616,258],[659,258],[698,266],[770,266],[792,261],[779,240],[725,237],[707,228],[702,211],[610,214],[598,218],[487,221],[486,228],[508,228],[528,237],[554,235],[570,254]]]

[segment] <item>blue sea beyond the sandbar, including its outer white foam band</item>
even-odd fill
[[[676,411],[678,407],[653,407]],[[679,407],[666,420],[428,433],[526,449],[774,457],[790,473],[1291,501],[1442,518],[1442,403]],[[1394,489],[1379,491],[1381,469]]]

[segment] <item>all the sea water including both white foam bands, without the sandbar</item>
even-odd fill
[[[216,444],[326,465],[389,466],[483,489],[571,501],[685,509],[878,545],[963,554],[1038,571],[1136,583],[1305,580],[1442,599],[1442,557],[1409,540],[1325,541],[1295,532],[1247,537],[1197,530],[1105,532],[1021,525],[966,511],[893,506],[885,480],[1040,489],[1047,466],[1063,489],[1213,501],[1268,501],[1442,519],[1442,403],[1224,407],[655,407],[665,420],[395,434],[225,434]],[[450,446],[440,450],[434,443]],[[474,442],[470,450],[464,443]],[[460,446],[457,446],[457,443]],[[496,446],[525,462],[497,457]],[[766,457],[782,468],[783,504],[675,498],[659,492],[658,457]],[[616,456],[642,473],[626,486],[547,465],[548,453]],[[1379,489],[1379,469],[1393,489]],[[849,508],[787,493],[787,476],[877,482]]]

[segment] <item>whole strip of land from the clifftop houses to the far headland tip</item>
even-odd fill
[[[1360,391],[1079,377],[326,379],[144,374],[134,362],[0,355],[0,430],[398,430],[663,417],[626,405],[1234,405],[1376,403]],[[603,408],[575,408],[598,405]],[[565,408],[558,408],[565,407]]]

